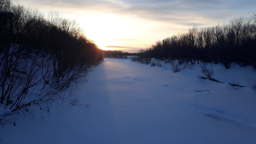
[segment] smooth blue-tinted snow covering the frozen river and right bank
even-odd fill
[[[106,58],[75,92],[81,104],[8,125],[2,144],[255,144],[252,68],[212,65],[217,83],[200,78],[200,64],[173,73],[163,67]],[[245,86],[234,90],[229,82]],[[43,119],[42,116],[44,117]]]

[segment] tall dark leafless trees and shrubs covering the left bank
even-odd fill
[[[10,0],[0,0],[0,11],[0,125],[35,108],[49,111],[53,102],[77,104],[72,91],[101,62],[102,50],[58,12],[45,18]]]

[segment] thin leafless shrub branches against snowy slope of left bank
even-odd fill
[[[66,65],[29,45],[5,45],[0,53],[0,125],[11,124],[35,107],[49,112],[52,103],[76,103],[72,91],[82,82],[90,65],[78,63]],[[30,50],[28,50],[30,49]],[[64,69],[65,68],[65,69]]]

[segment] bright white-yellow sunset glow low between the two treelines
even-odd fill
[[[84,34],[102,50],[138,52],[139,49],[151,47],[158,39],[187,31],[189,28],[116,14],[85,14],[83,11],[74,13],[76,16],[74,14],[65,14],[65,16],[76,19],[84,29]],[[181,29],[183,31],[180,31]]]

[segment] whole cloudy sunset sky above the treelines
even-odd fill
[[[45,16],[59,11],[76,20],[87,38],[104,50],[138,52],[155,41],[198,28],[250,17],[255,0],[18,0]]]

